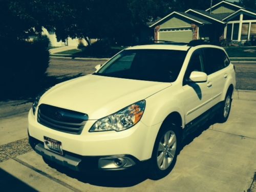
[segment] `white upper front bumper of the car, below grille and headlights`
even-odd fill
[[[60,141],[62,150],[80,156],[113,156],[127,154],[139,161],[151,158],[156,136],[161,124],[146,126],[138,122],[121,132],[89,132],[96,120],[88,120],[80,135],[63,133],[37,122],[30,110],[28,115],[29,135],[42,143],[44,136]]]

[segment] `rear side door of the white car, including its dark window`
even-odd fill
[[[208,75],[208,83],[212,87],[211,106],[221,101],[223,88],[225,86],[229,59],[223,50],[218,48],[204,48],[204,70]]]

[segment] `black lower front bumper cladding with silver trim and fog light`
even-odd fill
[[[44,143],[31,136],[29,136],[29,143],[33,150],[43,158],[78,172],[88,170],[143,169],[146,168],[149,162],[149,160],[139,161],[131,155],[80,156],[66,151],[63,152],[63,155],[59,155],[46,150]]]

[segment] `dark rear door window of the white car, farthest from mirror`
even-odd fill
[[[204,70],[207,75],[215,73],[229,65],[225,52],[216,48],[204,49]]]

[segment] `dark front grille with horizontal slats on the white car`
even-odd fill
[[[67,109],[57,108],[48,104],[40,104],[37,113],[37,121],[51,129],[79,135],[88,115]]]

